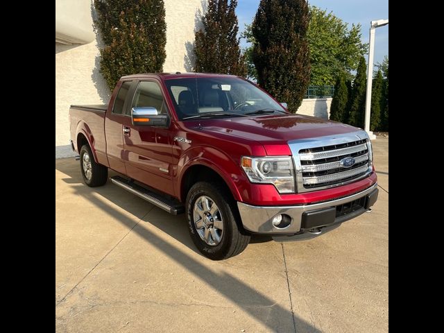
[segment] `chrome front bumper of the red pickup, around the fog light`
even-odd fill
[[[321,210],[323,208],[334,207],[337,205],[343,205],[350,203],[353,200],[367,196],[377,187],[377,184],[364,189],[351,196],[345,196],[343,198],[324,201],[323,203],[314,203],[309,205],[298,206],[252,206],[246,203],[237,202],[239,207],[239,213],[241,214],[242,224],[244,228],[250,232],[259,234],[296,234],[301,232],[302,214],[313,210]],[[291,217],[291,223],[287,228],[276,228],[272,223],[273,217],[278,214],[287,214]],[[356,216],[356,215],[355,215]],[[355,217],[353,216],[353,217]],[[345,219],[344,219],[345,221]],[[342,221],[337,221],[341,223]],[[326,225],[332,225],[333,223],[327,223]]]

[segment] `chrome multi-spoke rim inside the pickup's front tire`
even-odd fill
[[[200,239],[206,244],[216,246],[223,236],[222,214],[214,200],[200,196],[194,203],[193,221]]]

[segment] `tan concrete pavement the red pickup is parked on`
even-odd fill
[[[185,215],[56,160],[56,332],[388,332],[388,138],[373,150],[373,212],[307,241],[255,237],[221,262]]]

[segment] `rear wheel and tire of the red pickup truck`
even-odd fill
[[[105,185],[108,180],[108,168],[94,161],[91,148],[87,144],[80,148],[80,171],[83,181],[89,187]]]

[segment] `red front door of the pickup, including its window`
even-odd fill
[[[136,107],[152,107],[157,112],[168,114],[160,83],[156,80],[140,81],[133,102],[126,112]],[[126,117],[123,124],[123,146],[126,157],[126,173],[167,194],[174,195],[172,182],[172,147],[168,128],[133,125]],[[171,117],[170,117],[171,119]]]

